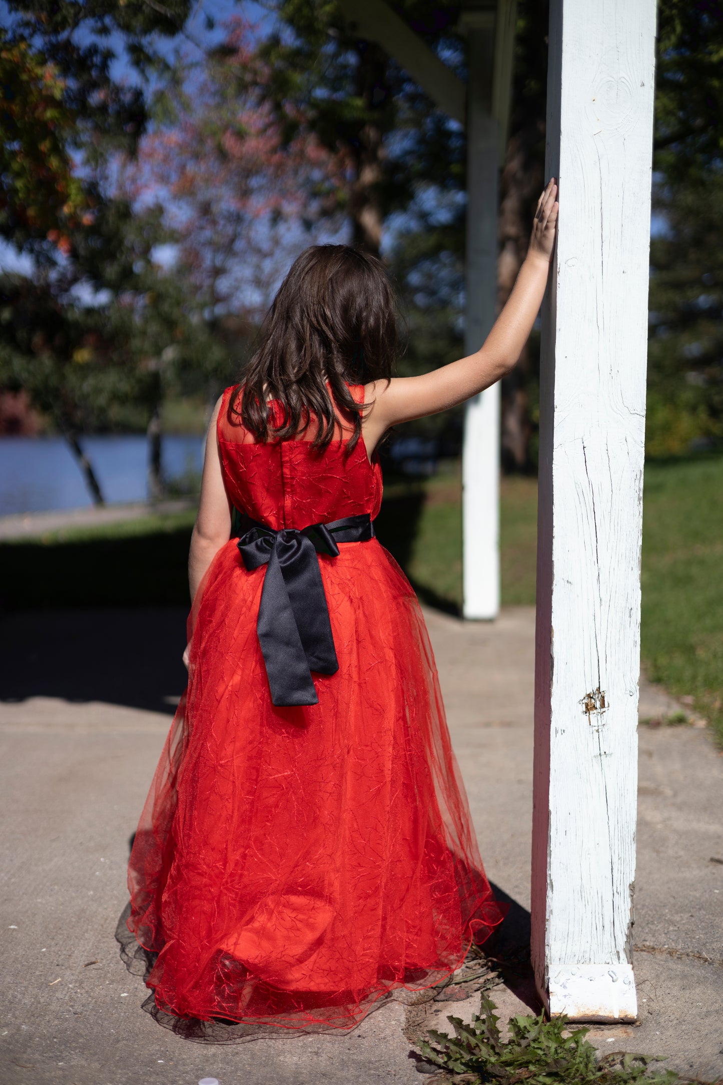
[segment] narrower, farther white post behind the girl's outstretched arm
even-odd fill
[[[492,115],[494,12],[465,12],[467,27],[467,267],[465,350],[494,323],[498,283],[499,125]],[[465,409],[462,448],[462,582],[466,618],[500,610],[500,385]]]

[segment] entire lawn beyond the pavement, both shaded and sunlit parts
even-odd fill
[[[66,528],[0,545],[0,604],[152,605],[189,601],[193,511]],[[723,456],[648,463],[643,526],[642,651],[648,673],[693,698],[723,742]],[[428,482],[390,482],[379,539],[423,601],[459,613],[459,468]],[[502,483],[502,603],[534,603],[537,484]]]

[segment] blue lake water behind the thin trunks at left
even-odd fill
[[[83,437],[80,443],[109,505],[147,499],[145,436]],[[203,449],[201,436],[164,437],[164,477],[181,485],[197,477]],[[0,437],[0,515],[89,505],[80,469],[62,437]]]

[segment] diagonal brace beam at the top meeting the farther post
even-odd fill
[[[359,36],[376,41],[449,117],[465,123],[465,85],[384,0],[339,0]]]

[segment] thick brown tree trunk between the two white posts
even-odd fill
[[[500,205],[499,309],[509,297],[527,254],[531,208],[542,189],[540,163],[532,156],[539,142],[539,128],[529,126],[515,132],[507,144]],[[529,378],[530,350],[529,344],[526,344],[519,362],[502,382],[502,465],[505,471],[528,471],[531,468]]]

